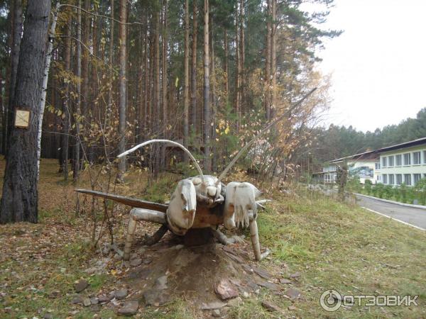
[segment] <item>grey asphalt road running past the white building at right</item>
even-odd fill
[[[359,206],[369,208],[383,215],[415,225],[426,230],[426,209],[401,206],[393,203],[378,201],[373,198],[356,196]]]

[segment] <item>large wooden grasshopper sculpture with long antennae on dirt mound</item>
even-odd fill
[[[295,103],[293,108],[302,103],[313,91],[310,91],[303,99]],[[82,189],[77,189],[77,191],[91,194],[92,196],[113,199],[133,206],[130,211],[129,228],[124,246],[124,259],[129,259],[130,257],[136,222],[138,220],[146,220],[161,224],[160,229],[151,237],[151,244],[158,242],[168,230],[175,235],[184,236],[188,230],[193,228],[211,228],[215,237],[226,245],[228,239],[219,231],[219,225],[224,225],[224,228],[228,230],[250,228],[254,256],[257,260],[260,260],[264,254],[261,254],[256,218],[258,208],[263,207],[262,203],[267,200],[258,200],[258,197],[261,196],[261,191],[253,184],[244,181],[231,181],[225,185],[222,183],[222,179],[229,172],[229,169],[234,166],[237,159],[253,145],[253,142],[256,142],[261,135],[267,133],[275,123],[278,123],[285,116],[288,116],[288,114],[283,113],[282,116],[279,116],[266,128],[263,128],[258,135],[239,151],[224,171],[219,174],[219,177],[204,175],[191,152],[183,145],[171,140],[148,140],[120,154],[119,157],[124,157],[146,145],[163,143],[180,147],[192,159],[199,175],[179,181],[168,205],[125,196],[104,194],[97,191]]]

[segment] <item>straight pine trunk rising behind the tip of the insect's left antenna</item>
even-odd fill
[[[127,74],[126,74],[126,0],[120,1],[120,80],[119,80],[119,153],[126,151],[126,98],[127,98]],[[119,160],[118,181],[124,181],[126,172],[126,157]]]

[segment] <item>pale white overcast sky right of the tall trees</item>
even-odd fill
[[[326,123],[375,130],[426,107],[426,1],[335,0],[321,28],[320,69],[332,73]]]

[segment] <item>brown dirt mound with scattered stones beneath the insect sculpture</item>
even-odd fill
[[[138,291],[133,298],[148,306],[185,298],[200,311],[214,310],[228,304],[237,306],[240,297],[258,293],[261,287],[277,294],[285,288],[258,267],[247,242],[224,246],[210,240],[187,247],[169,236],[133,258],[142,259],[142,264],[133,268],[125,281]]]

